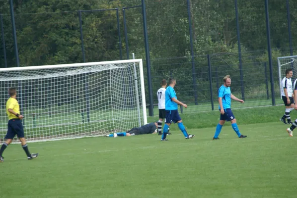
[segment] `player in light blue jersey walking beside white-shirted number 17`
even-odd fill
[[[187,108],[187,104],[184,104],[181,101],[177,100],[176,93],[173,89],[175,84],[176,84],[176,80],[173,78],[170,78],[169,86],[166,88],[166,91],[165,91],[166,119],[165,119],[165,125],[163,127],[163,134],[162,134],[161,141],[167,141],[166,136],[168,133],[169,126],[172,122],[173,123],[177,122],[179,129],[184,134],[186,139],[191,139],[191,138],[194,138],[195,136],[187,133],[186,128],[183,125],[183,121],[178,114],[177,104],[180,104],[185,108]]]

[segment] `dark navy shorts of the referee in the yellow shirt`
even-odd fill
[[[17,135],[18,138],[24,138],[23,124],[20,119],[10,119],[8,121],[8,130],[5,139],[13,139]]]

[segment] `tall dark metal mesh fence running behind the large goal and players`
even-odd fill
[[[216,110],[226,74],[232,94],[245,100],[233,108],[282,103],[277,57],[297,54],[297,1],[122,0],[112,6],[15,13],[20,66],[131,59],[135,53],[151,74],[145,69],[150,115],[157,113],[160,81],[169,77],[177,79],[178,99],[189,104],[182,112]],[[10,15],[0,16],[0,67],[12,67]]]

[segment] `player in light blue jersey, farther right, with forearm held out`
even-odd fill
[[[226,75],[223,78],[223,85],[219,89],[219,110],[221,112],[220,122],[217,125],[216,133],[213,138],[213,140],[219,140],[219,135],[221,133],[223,124],[225,121],[231,121],[231,125],[235,133],[237,134],[238,138],[246,138],[247,136],[241,135],[238,129],[238,126],[236,124],[235,116],[232,113],[231,110],[231,99],[234,99],[236,101],[239,101],[243,103],[244,101],[242,99],[237,99],[235,96],[231,94],[230,91],[230,85],[231,85],[231,79],[229,75]]]

